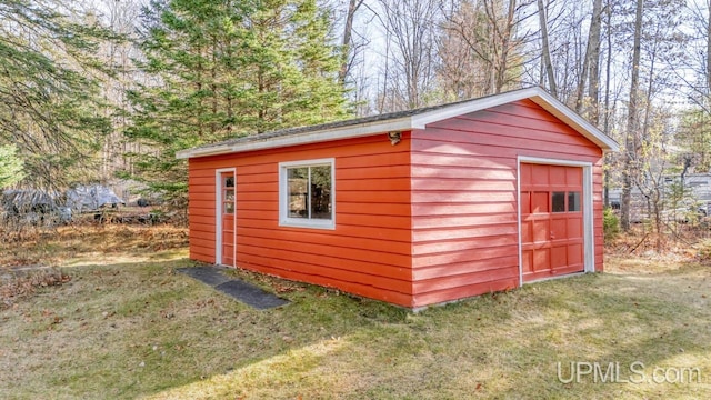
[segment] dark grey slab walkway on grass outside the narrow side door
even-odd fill
[[[176,271],[209,284],[224,294],[258,310],[267,310],[289,303],[289,301],[251,283],[229,278],[222,273],[222,270],[218,267],[178,268]]]

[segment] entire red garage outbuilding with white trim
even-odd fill
[[[408,308],[602,271],[617,149],[529,88],[184,150],[190,258]]]

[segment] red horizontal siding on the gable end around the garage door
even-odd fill
[[[412,133],[415,307],[519,284],[519,156],[593,162],[594,191],[602,190],[600,148],[528,100]],[[599,194],[594,201],[599,221]],[[595,253],[601,234],[595,222]]]

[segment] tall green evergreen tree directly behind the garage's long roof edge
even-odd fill
[[[133,178],[178,203],[177,151],[347,116],[340,56],[314,0],[153,1],[143,10],[138,67],[154,84],[132,91]]]

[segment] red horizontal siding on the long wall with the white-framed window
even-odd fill
[[[214,262],[214,170],[237,170],[237,264],[411,307],[410,140],[385,134],[191,159],[191,257]],[[279,226],[279,162],[336,159],[336,229]]]

